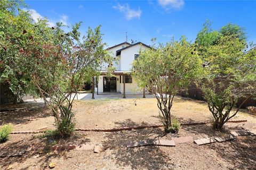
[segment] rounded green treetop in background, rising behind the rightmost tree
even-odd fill
[[[220,33],[222,36],[234,36],[234,38],[238,38],[243,42],[245,42],[247,39],[245,29],[232,23],[228,23],[227,25],[221,27]]]

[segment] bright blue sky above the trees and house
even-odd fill
[[[205,20],[213,29],[227,23],[244,27],[248,41],[256,43],[256,1],[25,1],[33,18],[46,16],[49,24],[82,21],[81,32],[102,25],[109,46],[128,40],[166,43],[182,35],[194,41]]]

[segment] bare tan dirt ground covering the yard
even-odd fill
[[[135,105],[136,104],[136,105]],[[27,106],[4,106],[7,108]],[[42,106],[42,105],[40,105]],[[2,106],[1,106],[2,109]],[[156,100],[104,99],[76,101],[74,105],[77,128],[115,128],[123,126],[159,124]],[[210,112],[202,101],[175,98],[172,113],[181,122],[210,120]],[[54,118],[42,106],[33,111],[0,113],[1,123],[13,123],[15,131],[30,131],[48,126],[54,128]],[[26,151],[20,157],[0,158],[0,169],[256,169],[256,137],[238,137],[233,141],[197,146],[181,143],[175,147],[146,146],[127,149],[126,142],[148,138],[171,139],[191,135],[194,139],[227,135],[231,130],[256,129],[256,117],[245,110],[233,120],[245,123],[228,123],[225,130],[216,132],[210,124],[182,126],[179,134],[163,133],[162,128],[121,132],[76,132],[67,140],[49,141],[39,134],[11,134],[10,140],[0,144],[0,154]],[[99,154],[92,150],[51,152],[58,144],[101,143]]]

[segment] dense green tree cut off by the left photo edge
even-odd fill
[[[1,1],[0,5],[0,82],[14,103],[33,89],[20,53],[36,34],[29,14],[19,10],[22,4],[22,1]]]

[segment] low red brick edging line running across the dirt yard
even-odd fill
[[[227,123],[242,123],[247,122],[247,120],[238,120],[238,121],[228,121]],[[192,125],[200,125],[200,124],[209,124],[210,121],[206,122],[195,122],[195,123],[181,123],[182,126],[192,126]],[[136,129],[145,129],[145,128],[159,128],[163,125],[148,125],[148,126],[134,126],[134,127],[124,127],[124,128],[113,128],[113,129],[81,129],[77,128],[76,131],[94,131],[94,132],[118,132],[118,131],[129,131]],[[11,134],[26,134],[26,133],[43,133],[45,131],[20,131],[20,132],[11,132]]]

